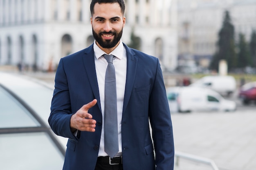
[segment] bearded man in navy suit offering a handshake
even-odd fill
[[[63,169],[173,170],[171,115],[159,60],[122,43],[123,0],[92,0],[90,9],[94,44],[62,58],[56,71],[49,124],[69,138]],[[113,156],[104,144],[110,100],[105,93],[112,90],[104,89],[111,63],[104,54],[115,56],[118,141]]]

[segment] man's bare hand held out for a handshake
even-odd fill
[[[76,131],[76,129],[79,131],[95,132],[96,120],[92,119],[92,115],[88,113],[88,110],[96,105],[96,103],[96,99],[92,100],[71,116],[70,128],[72,132]]]

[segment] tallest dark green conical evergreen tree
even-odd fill
[[[234,26],[231,23],[229,11],[225,11],[225,17],[222,28],[218,34],[217,50],[210,63],[211,70],[218,70],[219,61],[225,59],[228,64],[228,70],[236,67],[236,46],[235,46]]]

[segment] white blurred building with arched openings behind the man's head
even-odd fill
[[[90,0],[0,0],[0,65],[54,70],[61,57],[94,41]],[[122,41],[133,32],[140,50],[163,68],[177,65],[177,0],[125,0]]]

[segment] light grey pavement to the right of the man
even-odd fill
[[[212,159],[220,170],[256,170],[256,113],[172,114],[175,150]],[[208,170],[181,161],[176,170]],[[197,168],[195,168],[197,167]]]

